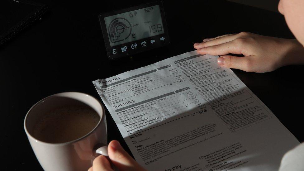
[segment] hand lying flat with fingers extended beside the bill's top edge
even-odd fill
[[[223,55],[218,64],[247,72],[264,73],[285,65],[304,64],[304,48],[297,40],[248,32],[204,39],[195,43],[194,48],[202,55]],[[227,55],[230,53],[245,57]]]

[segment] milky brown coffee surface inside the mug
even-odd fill
[[[92,131],[100,116],[89,106],[60,107],[46,113],[35,125],[33,136],[48,143],[64,143]]]

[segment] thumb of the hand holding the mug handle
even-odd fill
[[[121,147],[117,140],[109,143],[108,154],[112,163],[119,170],[145,170]]]

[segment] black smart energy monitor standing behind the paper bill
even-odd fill
[[[161,1],[103,13],[99,21],[109,59],[170,43]]]

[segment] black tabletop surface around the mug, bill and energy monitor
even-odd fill
[[[0,47],[0,149],[3,170],[40,170],[23,129],[26,112],[40,99],[77,91],[98,96],[92,81],[192,51],[203,38],[249,31],[294,38],[284,17],[227,1],[163,0],[171,44],[133,58],[107,58],[98,14],[143,1],[47,1],[49,11]],[[149,2],[149,1],[147,1]],[[259,97],[299,141],[302,133],[303,66],[264,74],[235,74]],[[121,137],[106,110],[108,140]],[[1,169],[2,170],[2,169]]]

